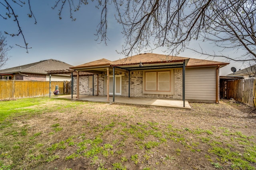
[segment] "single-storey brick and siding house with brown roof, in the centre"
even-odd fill
[[[218,102],[219,69],[229,63],[144,53],[117,61],[100,59],[71,67],[74,92],[87,95]],[[92,75],[79,76],[79,72]],[[79,86],[77,86],[79,84]]]

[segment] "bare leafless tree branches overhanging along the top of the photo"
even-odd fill
[[[16,2],[12,0],[12,2]],[[125,43],[120,53],[130,56],[140,51],[152,51],[164,47],[166,53],[178,55],[187,49],[192,40],[209,41],[220,48],[212,54],[196,50],[206,56],[222,56],[233,61],[256,60],[256,3],[255,0],[91,0],[101,11],[100,22],[96,29],[98,41],[107,44],[108,9],[116,8],[114,17],[122,25]],[[18,5],[24,3],[16,2]],[[30,6],[30,0],[28,0]],[[52,7],[58,9],[62,18],[64,8],[68,8],[72,21],[73,12],[88,5],[88,0],[57,0]],[[4,19],[15,18],[25,48],[28,49],[18,18],[7,0],[0,0],[0,6],[6,9]],[[36,19],[30,8],[29,17]],[[239,59],[224,56],[222,51],[243,50]]]

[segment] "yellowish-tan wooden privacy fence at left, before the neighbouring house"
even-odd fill
[[[55,86],[59,86],[60,94],[65,94],[66,82],[38,82],[24,80],[0,80],[0,100],[30,98],[54,95]]]

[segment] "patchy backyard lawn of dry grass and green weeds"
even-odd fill
[[[0,102],[0,170],[255,170],[256,111],[27,98]]]

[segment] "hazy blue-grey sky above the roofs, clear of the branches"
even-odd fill
[[[8,51],[10,59],[0,69],[47,59],[56,59],[76,66],[102,58],[110,61],[124,58],[123,55],[116,52],[122,50],[124,37],[121,33],[122,28],[120,24],[111,16],[114,13],[114,9],[108,9],[108,14],[110,14],[108,18],[108,38],[110,41],[107,41],[107,45],[105,45],[103,42],[95,41],[97,37],[94,34],[100,22],[100,10],[96,9],[95,5],[90,3],[90,1],[88,6],[82,5],[82,8],[78,12],[73,13],[76,21],[72,21],[67,6],[64,8],[62,20],[59,20],[58,10],[52,9],[54,2],[52,0],[33,0],[30,2],[37,24],[34,24],[32,18],[28,18],[29,8],[27,4],[23,7],[15,6],[14,10],[18,14],[20,26],[22,27],[28,46],[32,48],[28,49],[28,53],[26,53],[26,49],[15,45],[24,46],[21,36],[11,37],[5,35],[7,44],[12,46],[12,49]],[[2,8],[0,6],[1,10],[3,10]],[[0,23],[0,31],[2,33],[4,31],[8,33],[18,32],[18,27],[13,19],[4,20],[0,18]],[[191,42],[190,48],[197,48],[199,47],[198,44],[203,47],[204,51],[219,50],[212,44],[202,41]],[[165,54],[163,50],[165,49],[156,49],[152,52]],[[144,51],[140,53],[144,53]],[[226,51],[226,53],[232,57],[240,57],[242,55],[242,52],[237,52],[233,49]],[[220,68],[220,75],[232,73],[231,67],[235,67],[237,70],[245,67],[241,62],[227,61],[221,57],[207,58],[190,50],[185,50],[178,56],[230,63]]]

